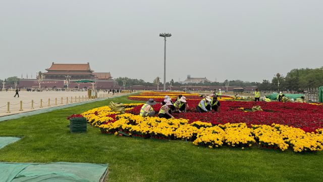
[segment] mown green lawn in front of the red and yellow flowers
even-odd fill
[[[3,162],[109,163],[108,181],[322,181],[323,152],[208,149],[191,142],[154,141],[101,134],[70,133],[67,116],[110,101],[84,104],[0,122],[0,136],[24,136],[0,149]]]

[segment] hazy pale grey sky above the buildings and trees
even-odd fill
[[[152,81],[262,81],[323,66],[323,1],[0,0],[0,78],[90,63]]]

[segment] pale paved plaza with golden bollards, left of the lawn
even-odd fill
[[[56,106],[63,106],[67,104],[73,104],[76,102],[85,102],[87,98],[87,92],[72,92],[72,91],[43,91],[43,92],[19,92],[19,98],[14,97],[15,92],[0,92],[0,117],[39,110],[43,108],[50,108]],[[99,92],[98,97],[112,97],[112,94],[108,95],[107,93]],[[62,102],[63,98],[63,102]],[[49,106],[48,106],[49,99]],[[73,99],[73,100],[71,100]],[[32,100],[34,102],[32,109]],[[42,107],[40,101],[42,100]],[[57,100],[57,101],[56,101]],[[22,110],[20,111],[20,102],[22,101]],[[10,102],[9,113],[8,111],[8,102]]]

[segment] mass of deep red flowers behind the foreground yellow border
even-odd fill
[[[210,122],[212,124],[239,123],[251,124],[272,123],[284,124],[298,127],[304,131],[315,131],[323,127],[323,106],[310,105],[305,103],[283,103],[283,102],[240,102],[240,101],[221,101],[219,112],[197,113],[195,106],[199,100],[187,100],[190,108],[187,113],[173,114],[175,118],[189,119],[193,121]],[[253,106],[260,106],[263,111],[244,112],[241,109],[251,110]],[[160,104],[153,106],[158,113]],[[129,111],[132,114],[139,114],[141,106]]]

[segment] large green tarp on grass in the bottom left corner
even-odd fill
[[[0,162],[0,181],[102,181],[107,164],[91,163],[5,163]]]

